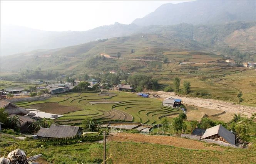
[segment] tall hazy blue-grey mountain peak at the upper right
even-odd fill
[[[176,25],[179,23],[215,24],[229,21],[255,21],[255,1],[192,1],[166,3],[132,23],[139,26]]]

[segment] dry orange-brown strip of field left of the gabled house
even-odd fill
[[[131,140],[132,139],[132,140]],[[204,150],[217,150],[223,151],[224,149],[219,146],[205,146],[205,143],[185,138],[178,138],[173,136],[151,136],[144,134],[132,133],[118,133],[114,136],[107,136],[107,141],[133,141],[133,142],[148,142],[155,144],[171,145],[186,149],[204,149]],[[186,144],[184,144],[186,143]]]

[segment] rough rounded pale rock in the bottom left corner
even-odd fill
[[[28,164],[26,154],[21,149],[16,149],[8,154],[7,158],[12,164]]]

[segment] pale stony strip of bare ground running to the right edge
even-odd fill
[[[220,100],[204,99],[204,98],[197,98],[197,97],[181,97],[176,95],[175,92],[164,92],[164,91],[157,91],[157,92],[147,91],[147,92],[149,92],[151,95],[153,94],[159,95],[162,100],[167,97],[181,99],[184,105],[192,105],[196,107],[216,109],[216,110],[221,110],[221,111],[226,111],[231,113],[241,113],[242,115],[245,115],[245,116],[251,116],[253,113],[256,113],[255,107],[248,107],[248,106],[238,105],[238,104],[224,102]]]

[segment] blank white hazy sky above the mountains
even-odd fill
[[[159,1],[3,1],[1,25],[19,25],[49,31],[85,31],[115,22],[130,24],[164,3]]]

